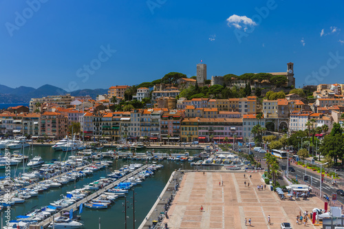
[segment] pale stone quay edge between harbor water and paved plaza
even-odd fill
[[[169,182],[167,182],[158,199],[155,201],[155,204],[152,206],[151,210],[148,212],[147,216],[144,218],[138,229],[152,228],[152,225],[154,223],[159,222],[159,218],[160,221],[162,221],[163,217],[160,217],[160,215],[164,215],[164,217],[166,217],[165,204],[168,204],[169,199],[171,199],[172,201],[172,199],[175,197],[176,190],[178,190],[183,176],[183,171],[174,171],[171,174]]]

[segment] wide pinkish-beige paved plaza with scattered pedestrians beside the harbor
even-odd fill
[[[244,174],[246,178],[244,178]],[[252,175],[250,178],[249,176]],[[280,200],[275,192],[257,190],[264,184],[262,173],[202,172],[185,173],[171,208],[169,228],[249,228],[245,218],[251,219],[254,228],[281,228],[281,222],[289,222],[292,228],[319,228],[308,220],[306,226],[297,225],[296,217],[301,211],[311,212],[323,208],[318,197],[308,200]],[[219,182],[224,185],[219,185]],[[244,182],[246,181],[246,187]],[[250,187],[247,186],[248,182]],[[200,207],[203,206],[203,211]],[[268,225],[270,215],[271,225]]]

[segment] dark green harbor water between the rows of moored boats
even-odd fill
[[[107,149],[103,149],[103,151],[107,151]],[[155,150],[156,153],[182,153],[183,150],[180,149],[173,149],[172,151],[159,149]],[[144,150],[137,151],[137,152],[145,152]],[[195,153],[200,153],[199,150],[189,150],[190,155]],[[3,153],[3,152],[2,152]],[[63,153],[62,151],[53,151],[50,146],[34,146],[33,153],[32,150],[28,148],[25,149],[25,155],[29,155],[29,159],[34,156],[41,156],[45,162],[52,162],[52,160],[65,160],[71,152]],[[61,159],[60,159],[61,158]],[[23,204],[15,204],[11,206],[11,218],[15,219],[18,215],[25,215],[30,210],[34,210],[35,208],[40,208],[43,206],[49,205],[51,202],[56,201],[57,199],[61,198],[61,195],[66,195],[66,192],[69,190],[74,190],[76,188],[83,188],[84,184],[88,184],[89,182],[93,182],[100,177],[106,177],[107,174],[111,173],[112,171],[122,167],[125,164],[130,163],[141,163],[141,164],[150,164],[151,162],[142,161],[142,160],[115,160],[113,166],[105,168],[100,171],[94,172],[93,175],[81,178],[78,182],[69,182],[61,186],[61,188],[50,188],[50,190],[45,191],[43,194],[39,194],[38,197],[31,197],[30,199],[26,199]],[[134,190],[136,193],[135,196],[135,228],[140,226],[140,223],[146,217],[147,213],[155,203],[156,199],[160,195],[162,189],[168,182],[171,173],[175,169],[184,168],[189,169],[191,168],[189,162],[175,162],[164,160],[161,162],[157,162],[158,164],[163,164],[164,168],[158,170],[153,177],[147,178],[142,185],[134,186]],[[28,171],[28,168],[25,168],[25,171]],[[29,170],[30,171],[30,170]],[[19,173],[23,173],[23,164],[19,164],[16,166],[11,166],[11,177],[18,176]],[[4,170],[0,170],[0,176],[4,177],[5,173]],[[127,194],[127,228],[133,228],[133,189],[129,191]],[[85,229],[93,229],[98,228],[99,225],[99,218],[101,222],[101,226],[103,228],[125,228],[125,213],[122,211],[125,210],[125,207],[122,206],[122,203],[125,202],[124,197],[120,197],[116,199],[114,204],[112,204],[107,209],[89,209],[84,208],[83,212],[81,213],[81,219],[85,222]],[[157,212],[157,214],[160,212]],[[4,218],[4,221],[6,219]],[[115,227],[114,227],[115,226]]]

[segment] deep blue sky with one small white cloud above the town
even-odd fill
[[[297,87],[344,83],[343,8],[343,1],[0,0],[0,84],[133,85],[169,72],[194,76],[201,59],[208,78],[285,72],[293,62]]]

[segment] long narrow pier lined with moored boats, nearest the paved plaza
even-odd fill
[[[123,182],[125,179],[131,177],[132,175],[135,175],[137,173],[140,173],[140,171],[146,169],[149,165],[146,164],[144,166],[141,166],[140,168],[138,168],[136,171],[133,171],[131,173],[128,173],[127,175],[121,177],[120,179],[116,180],[114,183],[109,184],[108,186],[106,186],[105,188],[102,188],[100,190],[97,190],[96,192],[92,193],[91,195],[88,195],[87,197],[85,197],[84,199],[81,199],[80,201],[76,202],[75,204],[72,204],[71,206],[68,206],[67,208],[63,208],[62,210],[60,210],[59,212],[57,212],[54,217],[60,217],[62,212],[69,212],[69,210],[73,209],[73,212],[75,212],[78,207],[80,206],[80,204],[85,204],[87,201],[94,199],[95,197],[97,197],[98,195],[106,192],[109,188],[114,188],[114,186],[118,185],[120,182]],[[35,225],[30,225],[30,229],[41,229],[43,228],[47,228],[47,226],[49,226],[49,224],[52,222],[52,218],[53,216],[41,221],[39,224],[35,224]]]

